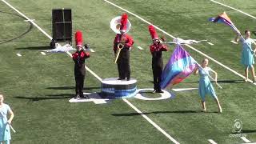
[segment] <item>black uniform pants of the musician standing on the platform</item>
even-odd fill
[[[121,50],[118,58],[118,74],[121,79],[130,79],[130,52]]]

